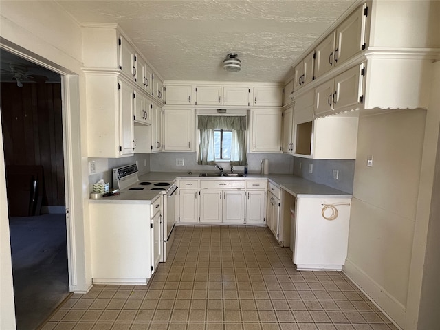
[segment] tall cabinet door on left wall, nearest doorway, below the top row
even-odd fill
[[[119,80],[120,155],[134,153],[133,89]]]

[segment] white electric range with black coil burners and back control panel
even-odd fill
[[[118,187],[120,193],[129,192],[131,196],[145,196],[145,190],[162,194],[162,256],[165,262],[174,241],[176,223],[175,192],[177,186],[170,181],[140,181],[136,164],[113,168],[113,187]],[[149,194],[148,194],[149,195]]]

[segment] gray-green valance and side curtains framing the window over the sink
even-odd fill
[[[246,159],[246,117],[199,115],[199,165],[215,165],[214,130],[232,131],[231,166],[245,166]]]

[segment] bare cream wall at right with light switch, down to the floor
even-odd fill
[[[405,330],[418,329],[419,309],[428,308],[420,306],[420,298],[423,263],[432,262],[426,244],[439,150],[440,62],[432,73],[427,111],[388,111],[359,123],[344,272]],[[368,155],[373,167],[366,166]],[[429,292],[427,286],[436,285],[425,278]]]

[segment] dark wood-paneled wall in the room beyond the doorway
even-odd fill
[[[5,165],[43,166],[43,206],[65,206],[60,83],[1,83]]]

